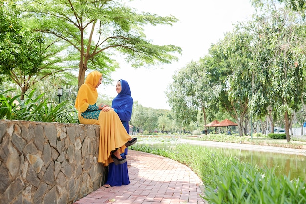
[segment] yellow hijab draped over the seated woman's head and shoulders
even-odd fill
[[[97,102],[98,92],[96,86],[101,76],[102,74],[99,71],[93,71],[88,74],[85,83],[81,85],[74,104],[74,107],[79,112],[86,111],[89,105]]]

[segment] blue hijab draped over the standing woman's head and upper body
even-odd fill
[[[131,120],[133,109],[133,98],[131,97],[130,86],[127,81],[120,79],[121,92],[112,101],[112,108],[119,115],[120,120],[126,124],[123,124],[127,131],[129,130],[129,121]],[[127,126],[127,127],[126,127]],[[129,132],[128,132],[129,133]]]

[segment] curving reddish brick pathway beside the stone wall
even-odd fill
[[[205,204],[202,181],[168,158],[129,150],[130,184],[100,187],[74,204]],[[207,204],[207,203],[206,203]]]

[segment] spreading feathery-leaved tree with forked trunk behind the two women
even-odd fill
[[[22,0],[24,14],[32,14],[34,29],[57,36],[68,42],[80,54],[79,87],[85,71],[99,70],[104,78],[118,65],[114,52],[134,67],[144,64],[171,63],[181,53],[174,45],[153,45],[145,39],[143,26],[172,25],[173,16],[161,17],[137,13],[126,5],[127,0]]]

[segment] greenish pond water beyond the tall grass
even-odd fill
[[[138,145],[148,145],[140,144]],[[155,143],[150,144],[150,147],[167,149],[174,144],[171,143]],[[275,168],[276,175],[289,175],[290,178],[298,178],[306,181],[306,156],[297,154],[283,154],[266,151],[241,150],[232,148],[220,148],[203,146],[203,148],[214,149],[225,156],[236,156],[237,159],[243,162],[256,164],[259,167]]]

